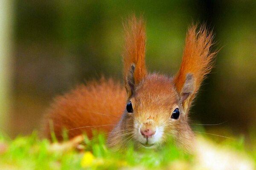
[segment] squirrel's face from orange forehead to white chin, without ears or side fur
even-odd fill
[[[186,128],[187,116],[172,78],[148,75],[134,89],[128,107],[125,114],[132,119],[131,136],[138,147],[157,147],[171,136],[188,138],[186,133],[192,134]]]

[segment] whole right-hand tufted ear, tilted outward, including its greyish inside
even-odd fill
[[[195,98],[204,77],[211,71],[216,51],[210,52],[213,35],[205,26],[199,31],[192,26],[186,35],[180,69],[174,77],[175,86],[185,112]]]

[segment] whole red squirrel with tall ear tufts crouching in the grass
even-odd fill
[[[153,148],[168,142],[192,150],[194,133],[188,123],[189,108],[204,77],[211,71],[216,52],[212,32],[192,25],[187,32],[180,69],[174,77],[148,73],[145,66],[145,23],[131,16],[124,24],[123,79],[125,87],[102,78],[79,85],[55,98],[44,123],[44,135],[63,140],[92,130],[108,134],[108,147]]]

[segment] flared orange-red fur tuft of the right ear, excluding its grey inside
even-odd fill
[[[195,77],[195,93],[199,90],[204,77],[212,69],[212,61],[216,52],[210,52],[212,47],[212,32],[208,32],[205,26],[196,31],[197,26],[191,26],[186,36],[186,43],[180,70],[175,76],[175,84],[180,92],[183,88],[186,74],[191,73]]]

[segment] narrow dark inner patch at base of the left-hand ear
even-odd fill
[[[132,64],[130,67],[129,73],[126,77],[125,88],[128,94],[128,98],[130,98],[133,95],[134,89],[135,89],[134,70],[135,70],[135,65]]]

